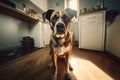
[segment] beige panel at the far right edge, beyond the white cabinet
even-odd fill
[[[107,26],[106,50],[120,57],[120,16],[117,16],[112,25]]]

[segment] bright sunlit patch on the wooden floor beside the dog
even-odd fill
[[[70,63],[73,66],[73,73],[77,80],[113,80],[109,75],[88,60],[71,57]]]

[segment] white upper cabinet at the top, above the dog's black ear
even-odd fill
[[[43,11],[47,10],[47,0],[30,0],[30,1]]]

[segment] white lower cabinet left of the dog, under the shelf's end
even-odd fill
[[[49,44],[51,29],[49,24],[38,22],[32,25],[30,36],[34,39],[35,47],[42,48]]]

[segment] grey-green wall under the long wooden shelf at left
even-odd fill
[[[0,14],[0,50],[20,46],[21,38],[28,35],[27,23]]]

